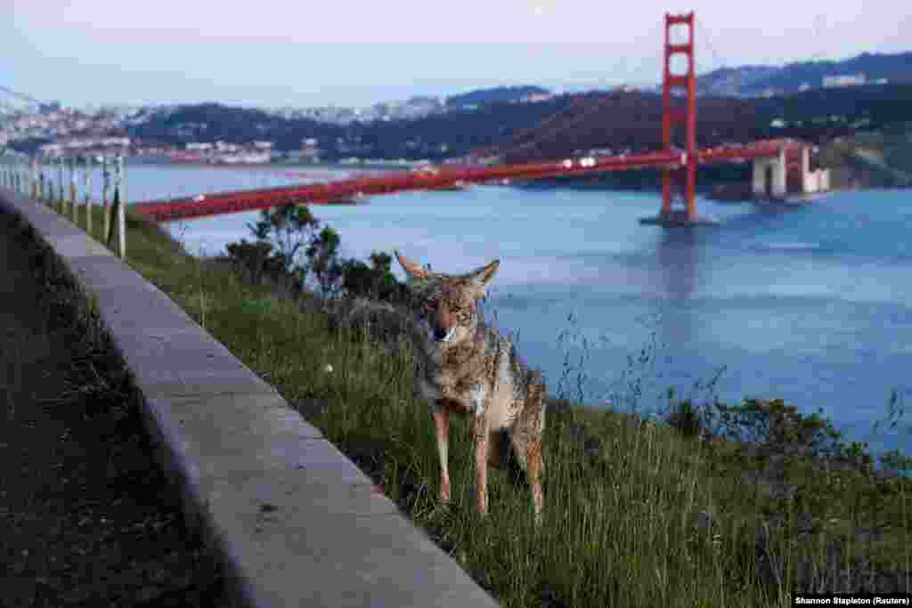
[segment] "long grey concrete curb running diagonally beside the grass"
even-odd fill
[[[44,204],[0,189],[98,301],[188,524],[234,606],[497,605],[396,505],[179,306]]]

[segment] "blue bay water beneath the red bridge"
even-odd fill
[[[130,167],[128,195],[140,201],[296,181],[269,168],[138,165]],[[489,301],[496,323],[518,333],[520,352],[544,369],[553,394],[582,390],[590,403],[649,411],[664,405],[669,386],[710,397],[693,387],[724,366],[715,386],[723,399],[782,397],[805,413],[819,407],[844,438],[867,441],[875,453],[912,451],[912,419],[900,430],[872,430],[886,417],[891,390],[912,397],[907,191],[839,192],[775,210],[701,200],[700,212],[721,225],[692,231],[638,224],[658,205],[656,193],[492,186],[312,210],[340,233],[347,257],[398,249],[451,272],[499,258]],[[256,219],[250,212],[169,226],[192,252],[212,255],[251,240],[245,224]],[[575,369],[562,381],[568,364]],[[617,398],[631,374],[644,381],[637,404]]]

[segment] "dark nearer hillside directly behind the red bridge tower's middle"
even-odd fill
[[[826,141],[856,128],[873,130],[912,118],[912,85],[812,89],[776,98],[698,98],[699,147],[770,137]],[[563,112],[526,129],[509,143],[486,149],[508,161],[553,159],[577,150],[633,152],[661,149],[658,95],[613,92],[575,96]],[[782,119],[784,126],[772,126]],[[675,132],[683,147],[684,130]]]

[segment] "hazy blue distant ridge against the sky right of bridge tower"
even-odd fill
[[[864,74],[868,82],[912,83],[912,52],[863,53],[841,61],[803,61],[775,66],[722,67],[697,77],[698,95],[751,97],[764,90],[794,93],[823,87],[824,77]]]

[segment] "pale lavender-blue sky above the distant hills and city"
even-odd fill
[[[698,74],[912,50],[912,5],[896,0],[677,3],[0,0],[0,85],[73,107],[302,108],[655,84],[664,15],[691,10]]]

